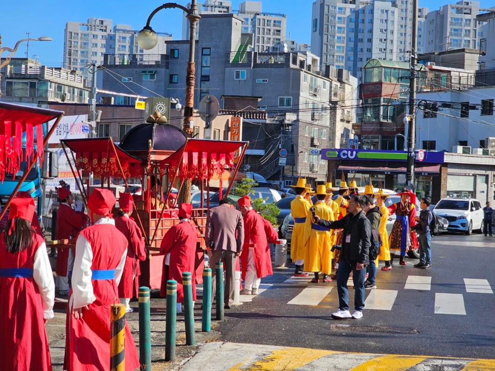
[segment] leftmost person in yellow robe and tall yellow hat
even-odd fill
[[[291,215],[294,219],[294,230],[292,231],[291,241],[291,259],[296,265],[294,272],[295,277],[308,277],[303,271],[304,253],[307,240],[304,238],[304,224],[309,213],[311,204],[305,199],[306,197],[306,180],[299,178],[297,184],[291,185],[296,192],[296,197],[291,201]]]

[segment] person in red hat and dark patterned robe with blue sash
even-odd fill
[[[406,265],[404,256],[407,250],[415,250],[418,248],[418,240],[416,233],[411,232],[411,227],[416,225],[416,195],[409,189],[403,189],[397,193],[400,196],[400,201],[392,204],[389,207],[390,214],[396,213],[396,221],[392,226],[390,233],[389,246],[391,253],[390,263],[394,261],[394,255],[397,250],[400,250],[400,265]]]

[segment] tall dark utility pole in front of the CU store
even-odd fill
[[[416,131],[416,44],[418,35],[418,0],[412,0],[411,80],[409,82],[409,125],[407,133],[406,186],[414,192],[414,160],[416,157],[414,134]]]

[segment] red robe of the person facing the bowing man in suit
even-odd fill
[[[273,274],[270,247],[268,246],[263,220],[263,217],[252,209],[244,216],[244,246],[241,254],[243,279],[246,279],[249,246],[252,247],[253,245],[256,276],[263,278]]]

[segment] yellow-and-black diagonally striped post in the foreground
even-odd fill
[[[110,370],[125,371],[125,305],[110,306]]]

